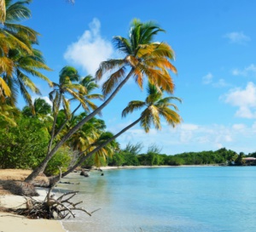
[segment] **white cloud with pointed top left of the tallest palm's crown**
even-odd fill
[[[93,19],[89,27],[90,30],[84,31],[77,42],[67,47],[64,58],[73,65],[81,66],[88,74],[94,75],[100,63],[113,55],[113,46],[102,38],[99,20]]]

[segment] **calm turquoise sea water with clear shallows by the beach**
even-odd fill
[[[256,167],[166,167],[73,173],[61,189],[95,212],[77,212],[68,231],[256,231]]]

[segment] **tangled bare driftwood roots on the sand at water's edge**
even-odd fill
[[[59,181],[60,179],[61,173]],[[15,212],[27,218],[63,219],[75,218],[74,211],[82,211],[91,216],[93,212],[99,210],[88,212],[83,207],[78,207],[83,201],[76,203],[72,201],[73,197],[79,193],[78,191],[67,192],[55,198],[55,195],[52,195],[54,188],[55,185],[49,189],[44,201],[37,201],[32,197],[24,196],[26,198],[26,208],[17,209]]]

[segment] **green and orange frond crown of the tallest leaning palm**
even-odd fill
[[[166,42],[152,42],[154,36],[162,30],[154,22],[142,23],[133,20],[128,38],[113,37],[114,46],[123,54],[124,59],[108,59],[101,63],[96,72],[97,80],[108,71],[113,71],[103,84],[102,92],[108,95],[125,79],[130,68],[129,77],[133,76],[140,88],[143,88],[145,77],[148,82],[168,93],[173,92],[174,83],[169,71],[177,73],[171,60],[174,52]]]

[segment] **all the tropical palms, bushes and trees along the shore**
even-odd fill
[[[51,82],[42,73],[50,68],[36,48],[39,33],[21,24],[31,17],[31,2],[0,1],[0,168],[30,168],[26,182],[32,182],[39,173],[57,174],[58,167],[65,176],[79,166],[243,164],[245,154],[225,149],[168,156],[156,145],[140,153],[143,144],[129,143],[122,150],[116,139],[137,124],[148,133],[151,127],[160,130],[162,120],[171,127],[182,122],[173,103],[181,102],[174,97],[171,76],[177,73],[174,51],[154,40],[164,30],[152,21],[132,20],[128,37],[113,37],[122,57],[103,61],[95,76],[80,76],[66,65],[58,82]],[[102,76],[108,78],[97,93]],[[49,83],[50,102],[32,99],[32,93],[40,94],[35,77]],[[99,116],[130,79],[146,88],[147,97],[131,100],[122,116],[142,110],[140,115],[113,134]],[[17,108],[20,96],[26,102],[23,109]]]

